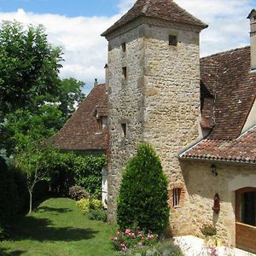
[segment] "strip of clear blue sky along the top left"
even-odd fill
[[[25,9],[38,14],[58,14],[68,17],[115,15],[118,0],[0,0],[0,12]]]

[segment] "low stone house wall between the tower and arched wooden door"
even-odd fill
[[[187,232],[202,236],[203,224],[217,227],[217,235],[224,244],[236,246],[237,189],[256,187],[255,166],[215,164],[217,177],[212,176],[211,163],[183,161],[183,178],[189,193],[190,213]],[[212,212],[213,197],[218,193],[220,212]]]

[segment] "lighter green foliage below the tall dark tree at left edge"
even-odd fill
[[[19,154],[29,144],[43,142],[61,128],[61,111],[55,105],[44,104],[34,112],[18,109],[6,116],[0,125],[0,145],[8,154]]]

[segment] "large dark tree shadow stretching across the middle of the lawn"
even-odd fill
[[[97,231],[73,227],[54,227],[48,218],[26,216],[11,234],[12,241],[79,241],[95,237]]]

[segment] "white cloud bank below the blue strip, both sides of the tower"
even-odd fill
[[[124,14],[136,0],[120,0],[119,13]],[[249,44],[249,22],[253,9],[249,0],[176,0],[176,2],[206,22],[209,27],[201,32],[201,55]],[[61,77],[74,77],[86,82],[87,91],[95,78],[104,82],[104,65],[108,60],[108,42],[100,35],[120,15],[112,17],[75,17],[38,15],[19,9],[14,13],[0,13],[0,20],[18,20],[26,24],[43,24],[49,42],[60,45],[65,53]]]

